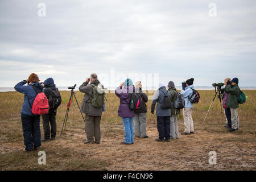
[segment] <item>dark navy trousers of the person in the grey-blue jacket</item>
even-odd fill
[[[170,118],[171,116],[157,117],[159,139],[170,139]]]

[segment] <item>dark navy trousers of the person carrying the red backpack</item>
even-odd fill
[[[21,114],[22,130],[26,150],[41,146],[40,115],[29,116]]]

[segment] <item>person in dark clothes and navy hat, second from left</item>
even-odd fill
[[[43,127],[44,127],[44,138],[42,142],[47,142],[49,140],[55,140],[57,124],[56,124],[56,114],[57,107],[61,104],[61,96],[59,90],[54,84],[53,78],[47,78],[43,82],[44,93],[49,102],[49,113],[42,115]],[[51,129],[49,124],[51,124]],[[51,134],[51,135],[50,135]],[[51,137],[51,138],[50,138]]]

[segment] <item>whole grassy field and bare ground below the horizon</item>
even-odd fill
[[[113,93],[106,94],[106,112],[102,114],[101,144],[88,144],[85,125],[75,102],[71,105],[67,129],[60,138],[70,92],[63,91],[62,104],[57,110],[57,138],[42,143],[47,164],[38,164],[38,151],[24,152],[20,109],[23,94],[0,93],[3,107],[0,109],[0,169],[1,170],[255,170],[256,169],[256,90],[245,90],[248,100],[240,105],[240,130],[227,133],[224,129],[220,102],[215,100],[203,120],[214,96],[214,90],[199,90],[201,100],[192,112],[195,135],[180,136],[170,143],[155,142],[158,137],[156,116],[150,113],[151,100],[147,103],[148,139],[135,138],[135,143],[123,146],[122,119],[117,116],[119,99]],[[76,92],[81,104],[83,94]],[[225,118],[225,116],[224,116]],[[180,115],[179,131],[184,130]],[[41,122],[42,125],[42,122]],[[43,127],[41,126],[43,137]],[[208,163],[209,151],[217,152],[217,164]]]

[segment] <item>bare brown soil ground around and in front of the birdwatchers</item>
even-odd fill
[[[109,128],[109,126],[102,126],[104,127]],[[75,151],[80,158],[104,160],[106,163],[102,166],[103,168],[94,168],[104,170],[256,169],[256,143],[253,134],[245,134],[241,138],[241,135],[234,133],[209,133],[205,130],[197,130],[195,134],[180,135],[179,139],[162,143],[155,141],[158,131],[151,125],[147,129],[149,138],[135,137],[134,144],[124,145],[121,144],[122,126],[115,126],[116,135],[104,134],[105,129],[103,129],[100,144],[84,144],[86,140],[84,130],[77,129],[75,132],[67,130],[63,138],[42,143],[40,150],[55,155],[63,151]],[[247,142],[243,142],[245,138]],[[5,140],[4,136],[0,141],[3,140]],[[17,150],[21,152],[23,148],[22,142],[1,142],[0,144],[1,154]],[[49,151],[53,148],[53,151]],[[209,164],[209,151],[217,152],[216,165]],[[54,163],[55,155],[48,157],[47,163]],[[72,154],[69,158],[72,158]]]

